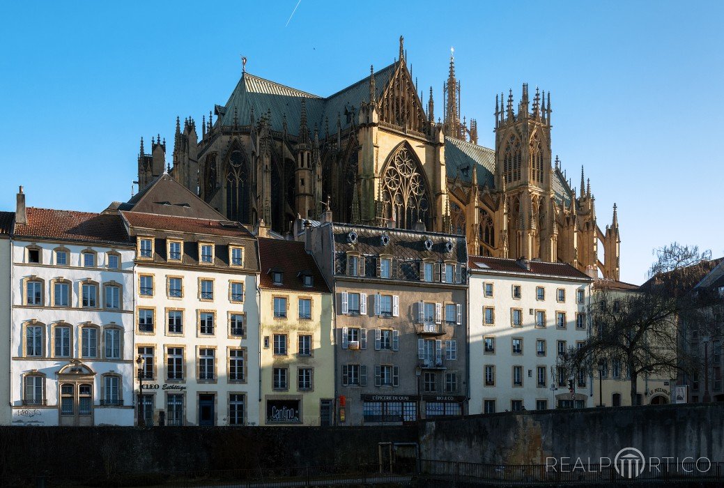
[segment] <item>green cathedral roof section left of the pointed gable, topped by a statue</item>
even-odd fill
[[[379,99],[382,96],[382,91],[390,81],[396,67],[397,64],[393,63],[374,74],[376,98]],[[227,103],[223,107],[217,107],[217,113],[222,120],[222,125],[233,125],[236,109],[237,124],[248,125],[252,109],[256,119],[271,110],[271,130],[282,132],[286,116],[287,132],[298,135],[302,98],[305,98],[306,101],[309,130],[313,130],[316,124],[320,137],[324,137],[327,126],[325,119],[329,119],[329,132],[336,132],[337,114],[341,114],[341,128],[345,130],[350,125],[345,117],[345,109],[351,112],[351,108],[355,107],[356,117],[360,103],[369,101],[369,76],[323,98],[244,72]]]

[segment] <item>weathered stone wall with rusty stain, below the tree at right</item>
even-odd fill
[[[424,459],[471,463],[544,464],[547,457],[613,460],[624,447],[645,457],[701,456],[724,461],[720,405],[647,405],[537,413],[494,413],[424,421]]]

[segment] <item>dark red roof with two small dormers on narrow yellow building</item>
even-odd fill
[[[259,258],[261,259],[259,285],[262,288],[330,293],[327,282],[324,281],[324,277],[319,272],[314,258],[304,250],[304,243],[294,240],[259,237]],[[274,285],[271,282],[270,269],[278,269],[284,273],[282,285]],[[306,287],[302,284],[299,273],[303,271],[311,273],[312,287]]]

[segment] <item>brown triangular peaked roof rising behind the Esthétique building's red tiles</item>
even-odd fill
[[[112,205],[112,204],[111,204]],[[184,185],[164,173],[142,188],[126,203],[118,207],[123,211],[224,220],[213,207],[198,198]]]

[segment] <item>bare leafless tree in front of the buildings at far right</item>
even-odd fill
[[[639,403],[639,376],[674,378],[678,371],[694,374],[700,364],[698,351],[686,347],[681,321],[700,319],[709,299],[691,290],[714,266],[711,253],[678,243],[654,253],[657,260],[649,280],[639,290],[621,293],[599,282],[590,307],[592,333],[565,358],[576,371],[596,371],[616,363],[625,367],[631,405]]]

